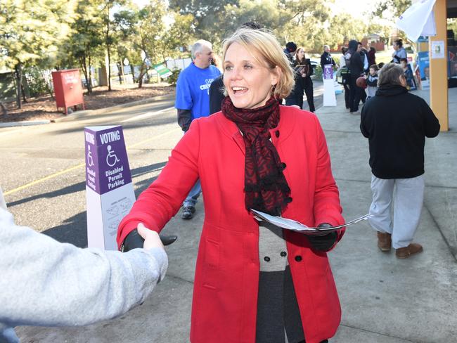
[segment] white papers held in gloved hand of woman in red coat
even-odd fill
[[[295,221],[293,219],[284,218],[282,216],[271,216],[271,214],[257,211],[257,209],[251,209],[251,212],[252,212],[252,214],[254,214],[255,218],[258,221],[262,221],[262,220],[268,221],[269,223],[271,223],[275,226],[278,226],[280,228],[285,228],[288,230],[298,231],[301,233],[307,233],[307,234],[311,234],[311,235],[319,234],[319,233],[323,233],[323,232],[336,231],[340,228],[344,228],[349,225],[359,223],[359,221],[366,220],[366,219],[370,218],[371,216],[373,216],[372,214],[365,214],[364,216],[360,216],[359,218],[356,218],[352,221],[348,221],[345,224],[338,225],[338,226],[331,226],[330,228],[310,228],[309,226],[306,226],[306,225],[300,223],[300,221]]]

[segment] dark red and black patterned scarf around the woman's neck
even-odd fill
[[[270,141],[270,129],[279,123],[279,103],[270,98],[255,109],[236,108],[227,96],[221,104],[225,117],[234,122],[245,141],[245,206],[274,216],[292,200],[283,174],[285,164]]]

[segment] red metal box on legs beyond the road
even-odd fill
[[[56,93],[57,110],[63,108],[66,115],[67,109],[71,106],[81,104],[83,110],[86,109],[78,69],[52,72],[52,81],[54,84],[54,93]]]

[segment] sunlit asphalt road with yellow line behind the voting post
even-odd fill
[[[0,129],[0,185],[15,221],[86,247],[84,127],[122,125],[138,195],[181,138],[173,105],[174,96],[167,96],[103,115]]]

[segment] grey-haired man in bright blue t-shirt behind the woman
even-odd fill
[[[176,103],[178,124],[186,132],[195,118],[210,115],[210,85],[221,72],[212,65],[212,44],[200,39],[192,46],[193,63],[186,67],[176,84]],[[200,180],[195,183],[183,204],[182,219],[191,219],[195,204],[202,188]]]

